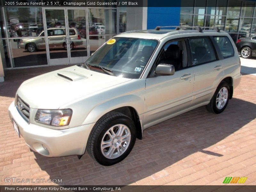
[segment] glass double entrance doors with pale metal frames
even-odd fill
[[[87,59],[86,9],[45,8],[46,51],[50,65],[82,63]]]

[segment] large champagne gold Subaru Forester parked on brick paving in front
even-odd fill
[[[84,64],[23,82],[9,107],[18,135],[44,156],[87,150],[112,165],[152,125],[204,105],[223,112],[241,80],[228,33],[158,29],[117,35]]]

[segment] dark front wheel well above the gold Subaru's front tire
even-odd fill
[[[135,110],[135,108],[126,106],[126,107],[116,108],[112,111],[120,112],[120,113],[123,113],[124,115],[130,117],[136,127],[136,137],[140,140],[142,139],[142,127],[140,124],[140,117],[139,117],[137,111]]]

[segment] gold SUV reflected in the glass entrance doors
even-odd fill
[[[49,48],[65,48],[67,49],[67,44],[65,43],[66,33],[65,28],[48,28],[47,29]],[[71,38],[70,49],[74,49],[77,45],[82,45],[80,33],[76,28],[69,28],[69,36]],[[38,37],[44,37],[44,31],[42,31]],[[73,41],[72,41],[73,40]],[[44,38],[33,38],[33,39],[21,39],[19,47],[26,49],[29,52],[36,52],[39,49],[45,49],[45,39]]]

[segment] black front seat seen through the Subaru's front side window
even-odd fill
[[[159,63],[173,65],[175,71],[182,68],[182,63],[180,62],[180,48],[176,44],[171,44],[165,51],[165,59],[161,59]]]

